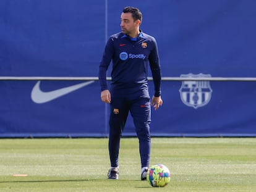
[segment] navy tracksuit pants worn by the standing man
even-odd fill
[[[119,166],[119,146],[122,131],[126,125],[128,114],[132,115],[135,131],[139,138],[139,152],[142,167],[148,167],[150,162],[150,98],[111,98],[109,116],[109,157],[111,167]]]

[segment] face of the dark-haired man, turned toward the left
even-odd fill
[[[121,30],[122,33],[129,35],[138,30],[140,25],[140,20],[135,20],[132,18],[131,13],[122,13],[121,14]]]

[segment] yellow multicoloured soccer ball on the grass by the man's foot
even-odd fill
[[[148,169],[147,181],[153,187],[166,186],[171,180],[169,169],[163,164],[153,165]]]

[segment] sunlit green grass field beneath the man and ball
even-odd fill
[[[107,180],[107,138],[1,139],[0,191],[256,191],[256,138],[152,138],[164,188],[140,181],[138,146],[122,138],[119,180]]]

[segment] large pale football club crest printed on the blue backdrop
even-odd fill
[[[187,75],[181,75],[181,77],[187,78],[203,78],[203,77],[211,77],[211,75],[204,75],[202,73],[198,75],[194,75],[189,73]],[[179,89],[179,93],[181,95],[181,101],[184,102],[189,107],[194,107],[197,109],[198,107],[205,106],[211,99],[211,87],[210,81],[205,80],[188,80],[182,81],[181,88]]]

